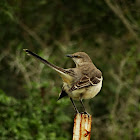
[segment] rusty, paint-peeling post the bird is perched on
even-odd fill
[[[91,115],[76,114],[74,118],[73,140],[90,140]]]

